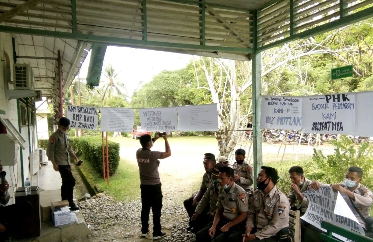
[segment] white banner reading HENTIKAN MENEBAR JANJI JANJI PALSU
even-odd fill
[[[178,126],[176,107],[139,109],[142,131],[175,131]]]

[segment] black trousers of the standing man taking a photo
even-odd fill
[[[149,229],[150,208],[153,211],[153,233],[160,233],[162,209],[162,183],[157,185],[140,185],[141,189],[141,232],[147,233]]]

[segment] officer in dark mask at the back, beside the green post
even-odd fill
[[[253,194],[253,167],[245,162],[245,150],[238,149],[235,152],[236,162],[233,164],[233,170],[235,171],[235,183],[241,186],[248,193],[249,198]],[[250,201],[249,201],[250,202]]]

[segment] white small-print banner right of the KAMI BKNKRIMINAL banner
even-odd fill
[[[134,109],[101,107],[100,131],[132,132],[135,122]]]

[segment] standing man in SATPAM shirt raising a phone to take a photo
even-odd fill
[[[166,146],[165,152],[151,151],[154,142],[163,136]],[[141,147],[136,151],[137,164],[140,171],[141,189],[141,236],[145,237],[149,232],[149,213],[153,211],[153,239],[166,236],[161,231],[161,209],[162,209],[162,183],[159,179],[159,159],[167,158],[171,155],[170,145],[167,141],[167,133],[156,132],[152,139],[150,135],[140,137]]]

